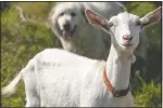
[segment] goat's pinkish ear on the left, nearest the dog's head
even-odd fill
[[[90,11],[90,10],[86,10],[85,14],[86,14],[88,22],[91,25],[99,27],[99,28],[108,29],[108,22],[104,17],[102,17],[98,13]]]

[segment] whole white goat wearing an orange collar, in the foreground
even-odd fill
[[[30,59],[2,89],[2,95],[13,94],[23,79],[26,107],[134,106],[128,87],[130,66],[135,62],[134,50],[139,43],[141,29],[161,18],[161,8],[142,18],[124,12],[106,21],[90,10],[86,10],[86,16],[90,24],[111,35],[106,63],[59,49],[47,49]]]

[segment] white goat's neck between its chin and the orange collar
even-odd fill
[[[113,44],[106,60],[106,76],[115,90],[125,90],[129,84],[131,54],[120,53]]]

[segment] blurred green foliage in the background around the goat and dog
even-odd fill
[[[158,4],[161,4],[156,2]],[[27,62],[46,48],[61,48],[59,40],[46,26],[30,22],[21,23],[20,5],[25,14],[39,22],[48,19],[48,13],[54,2],[10,2],[1,11],[1,85],[7,85]],[[125,2],[129,12],[143,16],[153,11],[155,2]],[[147,30],[149,48],[147,59],[138,58],[133,65],[130,84],[135,106],[161,106],[161,23]],[[2,107],[25,106],[24,84],[12,97],[2,97]]]

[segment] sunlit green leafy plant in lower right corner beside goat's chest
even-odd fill
[[[138,72],[138,71],[137,71]],[[161,106],[161,83],[146,83],[143,79],[137,73],[142,86],[136,91],[134,100],[136,106],[141,107],[160,107]]]

